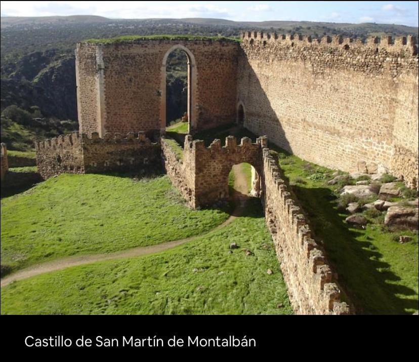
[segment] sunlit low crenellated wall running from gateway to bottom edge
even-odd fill
[[[298,314],[348,314],[332,270],[297,202],[281,179],[278,161],[263,149],[262,192],[265,218],[272,235],[288,296]]]

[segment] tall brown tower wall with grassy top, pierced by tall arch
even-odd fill
[[[137,39],[76,49],[80,132],[165,129],[165,60],[174,49],[189,58],[191,129],[235,119],[238,43],[229,40]]]

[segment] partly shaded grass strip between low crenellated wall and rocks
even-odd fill
[[[336,195],[342,185],[327,185],[334,171],[277,151],[292,191],[316,238],[323,240],[326,256],[357,313],[411,314],[418,310],[417,232],[389,232],[383,227],[384,215],[369,214],[371,223],[365,230],[350,228],[344,221],[348,215],[337,210]],[[412,242],[397,243],[400,234],[413,236]]]

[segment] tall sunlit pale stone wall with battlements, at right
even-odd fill
[[[237,104],[246,128],[319,165],[354,171],[373,162],[417,187],[414,37],[242,38]]]

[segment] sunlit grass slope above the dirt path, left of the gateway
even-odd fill
[[[13,269],[198,235],[228,210],[190,210],[169,178],[64,174],[1,201],[2,264]]]

